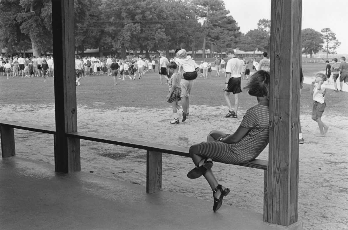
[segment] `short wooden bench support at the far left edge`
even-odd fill
[[[0,136],[2,157],[15,156],[15,134],[13,128],[6,125],[0,125]]]

